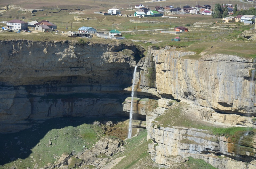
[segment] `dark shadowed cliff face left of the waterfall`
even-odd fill
[[[136,57],[143,50],[118,42],[0,42],[0,132],[62,116],[122,112]],[[124,114],[123,114],[124,115]]]

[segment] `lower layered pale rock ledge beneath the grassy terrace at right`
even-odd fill
[[[175,109],[180,106],[180,103],[172,104],[172,106],[167,104],[166,106],[170,109],[168,111],[173,112],[172,115],[175,114]],[[158,111],[156,111],[157,109]],[[184,118],[184,116],[188,116],[183,120],[185,124],[193,125],[192,123],[199,121],[198,124],[201,126],[207,125],[199,118],[196,120],[194,107],[188,106],[180,110],[183,113],[177,116],[177,119],[171,119],[168,124],[163,124],[157,119],[161,119],[167,109],[164,107],[158,107],[157,109],[149,112],[146,119],[147,138],[153,139],[153,143],[149,144],[149,153],[151,159],[156,163],[171,166],[174,162],[181,162],[182,158],[191,156],[203,159],[216,168],[251,169],[256,167],[256,135],[253,131],[216,136],[208,130],[182,127],[183,122],[177,125],[175,121],[178,118]],[[193,114],[193,117],[191,114]],[[171,117],[165,115],[163,118]],[[175,126],[172,124],[175,124]],[[224,126],[215,125],[214,127],[221,128]],[[179,156],[180,160],[177,161],[176,158]]]

